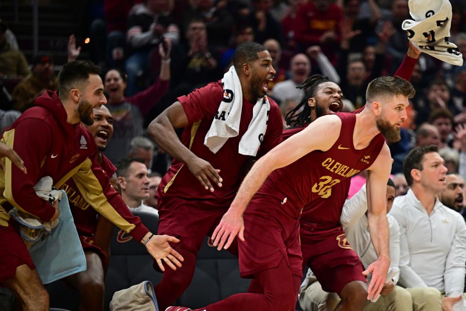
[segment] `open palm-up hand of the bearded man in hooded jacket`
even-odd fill
[[[146,246],[147,251],[155,261],[157,261],[157,264],[162,271],[165,271],[162,260],[164,260],[165,263],[173,270],[176,270],[176,266],[181,267],[180,261],[184,260],[183,256],[174,250],[168,242],[178,243],[180,240],[168,235],[155,235],[150,231],[146,233],[144,238],[141,240],[141,243]]]

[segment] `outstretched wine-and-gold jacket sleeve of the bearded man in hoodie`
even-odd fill
[[[79,171],[73,175],[73,181],[83,198],[94,209],[129,233],[134,240],[141,241],[149,232],[141,219],[131,213],[121,196],[113,189],[109,176],[97,162],[97,156],[84,161]]]

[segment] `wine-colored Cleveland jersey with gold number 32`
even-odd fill
[[[266,181],[269,187],[273,185],[286,196],[286,201],[295,208],[294,213],[301,213],[305,207],[301,220],[309,218],[313,222],[332,224],[332,227],[340,219],[348,193],[345,186],[347,183],[349,186],[350,177],[372,165],[385,141],[382,134],[378,134],[366,148],[354,149],[356,114],[336,115],[341,119],[340,135],[328,151],[316,150],[304,155],[272,172]],[[338,187],[334,187],[336,185]]]

